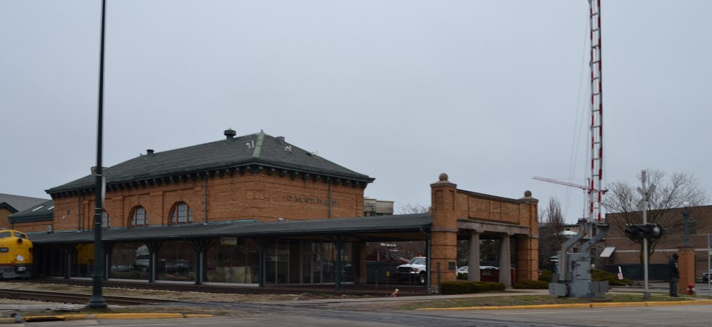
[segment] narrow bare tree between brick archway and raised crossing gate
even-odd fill
[[[539,263],[543,266],[549,258],[561,249],[566,240],[562,232],[565,229],[561,204],[555,198],[549,199],[549,205],[539,215]]]

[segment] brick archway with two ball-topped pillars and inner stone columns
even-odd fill
[[[471,266],[479,262],[480,235],[501,237],[500,281],[511,287],[509,240],[515,239],[516,280],[538,278],[538,199],[527,191],[521,199],[508,199],[488,194],[458,190],[457,185],[441,174],[431,187],[431,264],[430,281],[436,290],[440,281],[456,280],[458,234],[471,240],[468,258]],[[440,267],[438,274],[437,267]],[[471,271],[478,271],[472,269]],[[474,275],[474,274],[470,274]],[[470,280],[477,280],[469,276]]]

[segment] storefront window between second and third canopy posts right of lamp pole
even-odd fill
[[[197,259],[189,241],[166,241],[156,254],[156,279],[195,281]]]

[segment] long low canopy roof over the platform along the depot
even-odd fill
[[[145,241],[166,239],[210,237],[288,237],[329,239],[340,235],[348,239],[377,240],[424,240],[424,231],[430,229],[433,219],[430,213],[397,214],[377,217],[352,217],[337,219],[309,219],[281,222],[229,222],[190,224],[182,226],[132,227],[106,229],[104,242]],[[88,243],[93,242],[93,232],[58,232],[54,234],[30,234],[35,244]]]

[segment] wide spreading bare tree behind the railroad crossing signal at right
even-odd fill
[[[681,214],[676,208],[683,207],[683,202],[691,206],[705,204],[707,197],[698,180],[692,174],[678,172],[666,175],[660,170],[649,170],[646,173],[649,183],[655,184],[656,189],[651,194],[651,199],[658,204],[656,208],[649,208],[646,220],[650,224],[659,224],[666,232],[661,239],[652,239],[648,242],[648,258],[655,253],[656,246],[671,234],[679,234],[683,226]],[[641,176],[637,176],[640,180]],[[637,192],[637,185],[625,181],[612,182],[608,185],[608,192],[602,206],[606,209],[611,219],[607,222],[611,228],[618,229],[625,234],[627,224],[642,224],[643,214],[638,209],[642,195]],[[643,261],[642,241],[634,241],[641,245],[640,261]]]

